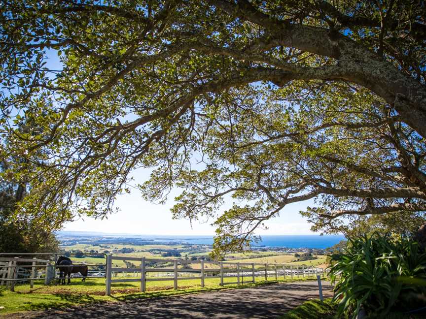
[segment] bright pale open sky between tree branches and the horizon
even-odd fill
[[[148,169],[137,169],[133,172],[134,183],[142,183],[149,178]],[[128,233],[147,235],[213,235],[213,220],[200,220],[192,223],[187,220],[173,220],[170,208],[174,204],[174,197],[180,192],[174,189],[164,205],[144,201],[140,191],[134,189],[130,194],[119,195],[116,207],[120,211],[108,216],[105,220],[92,218],[78,219],[65,224],[64,230],[100,231],[107,233]],[[232,198],[226,198],[221,211],[231,207]],[[299,211],[306,206],[313,206],[313,200],[294,203],[286,206],[279,217],[271,219],[266,225],[267,230],[259,229],[259,235],[294,235],[312,234],[310,224],[300,216]],[[219,211],[220,213],[220,211]]]

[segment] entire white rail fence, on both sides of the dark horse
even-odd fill
[[[25,257],[2,257],[0,254],[0,285],[6,285],[12,291],[17,282],[30,282],[34,287],[34,280],[44,279],[46,285],[50,284],[55,277],[55,265],[58,253],[44,255],[55,255],[55,260]],[[30,254],[21,254],[30,255]],[[43,254],[40,254],[43,255]],[[87,254],[85,254],[87,255]],[[100,255],[100,254],[96,254]],[[113,260],[138,261],[136,267],[113,267]],[[193,269],[189,264],[198,264],[199,269]],[[71,265],[70,265],[71,266]],[[86,266],[96,266],[99,264]],[[146,282],[173,281],[173,287],[178,289],[179,280],[200,280],[201,287],[205,286],[205,279],[218,278],[220,286],[231,284],[254,283],[256,277],[278,279],[278,277],[293,279],[305,276],[323,275],[324,270],[316,267],[305,267],[304,265],[288,265],[278,263],[249,263],[232,261],[205,261],[205,260],[183,260],[183,259],[158,259],[146,257],[106,255],[106,266],[104,269],[89,270],[90,277],[106,277],[106,294],[111,294],[111,284],[140,282],[141,291],[146,290]],[[40,270],[41,268],[41,270]],[[133,273],[137,278],[114,277],[118,273]],[[44,277],[42,277],[44,276]],[[81,276],[75,276],[81,277]],[[236,281],[228,282],[226,278],[235,278]]]

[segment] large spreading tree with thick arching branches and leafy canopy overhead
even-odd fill
[[[38,165],[26,212],[54,219],[64,202],[105,216],[141,166],[157,167],[147,198],[187,189],[177,217],[243,201],[218,217],[218,247],[310,198],[324,230],[426,210],[424,1],[11,0],[1,12],[3,153]],[[29,120],[39,133],[16,129]]]

